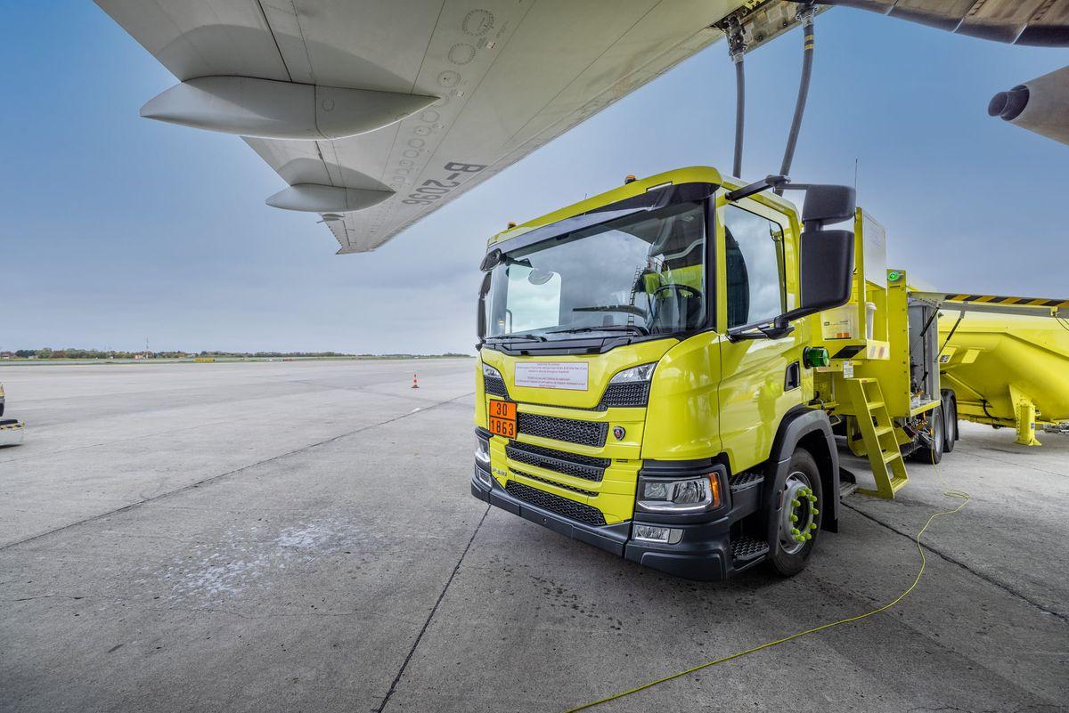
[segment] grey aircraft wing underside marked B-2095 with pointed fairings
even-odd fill
[[[745,4],[96,3],[180,81],[142,115],[242,136],[289,185],[268,202],[320,213],[339,253],[383,244],[694,54]]]

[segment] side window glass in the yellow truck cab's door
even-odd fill
[[[737,206],[724,208],[728,327],[776,317],[784,310],[784,228]]]

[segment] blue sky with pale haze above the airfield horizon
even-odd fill
[[[486,238],[626,174],[730,173],[734,78],[694,56],[370,254],[236,137],[142,120],[174,78],[86,0],[0,0],[0,350],[474,353]],[[817,19],[796,181],[852,184],[888,267],[939,289],[1069,297],[1069,147],[987,116],[1069,52],[850,9]],[[746,60],[744,177],[778,171],[801,36]]]

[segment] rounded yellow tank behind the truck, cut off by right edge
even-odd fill
[[[1069,320],[970,312],[956,321],[947,305],[940,375],[960,417],[1014,427],[1024,445],[1039,444],[1036,424],[1069,421]]]

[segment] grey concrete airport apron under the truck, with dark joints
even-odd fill
[[[962,423],[702,584],[474,498],[475,367],[0,367],[0,711],[563,711],[894,599],[941,479],[894,608],[592,710],[1069,711],[1069,437]]]

